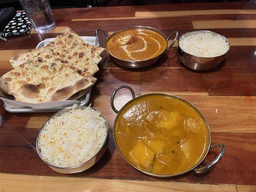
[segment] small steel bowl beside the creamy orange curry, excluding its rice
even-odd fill
[[[184,52],[181,48],[180,48],[180,44],[179,41],[183,36],[188,36],[191,33],[195,33],[195,32],[207,32],[207,33],[212,33],[214,35],[219,35],[222,36],[218,33],[212,32],[212,31],[207,31],[207,30],[197,30],[197,31],[191,31],[191,32],[187,32],[184,33],[182,36],[179,37],[178,39],[178,55],[180,60],[183,62],[183,64],[185,66],[187,66],[190,69],[196,70],[196,71],[204,71],[204,70],[209,70],[212,69],[214,67],[216,67],[217,65],[219,65],[219,63],[226,59],[229,50],[224,53],[223,55],[220,55],[218,57],[196,57],[194,55],[191,55],[189,53]],[[228,39],[224,36],[222,36],[226,42],[228,42],[229,44],[229,49],[230,49],[230,42],[228,41]]]

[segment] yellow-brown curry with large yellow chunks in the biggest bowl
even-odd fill
[[[207,125],[197,111],[180,99],[161,94],[135,99],[123,108],[114,137],[127,161],[157,175],[193,168],[209,144]]]

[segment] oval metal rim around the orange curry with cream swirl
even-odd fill
[[[158,29],[155,29],[155,28],[153,28],[153,27],[148,27],[148,26],[141,26],[141,25],[138,25],[138,26],[130,26],[130,27],[124,27],[124,28],[122,28],[122,29],[119,30],[119,31],[115,31],[113,34],[111,34],[111,35],[107,38],[105,48],[106,48],[106,51],[110,54],[110,56],[112,56],[112,57],[115,58],[115,59],[122,60],[122,59],[120,59],[120,58],[118,58],[118,57],[115,57],[114,55],[112,55],[112,54],[109,52],[109,50],[108,50],[108,48],[107,48],[107,43],[108,43],[108,41],[110,40],[110,38],[111,38],[112,36],[116,35],[117,33],[122,32],[122,31],[125,31],[125,30],[128,30],[128,29],[136,29],[136,28],[146,28],[146,29],[149,29],[149,30],[151,30],[151,31],[155,31],[155,32],[159,33],[161,36],[163,36],[164,39],[165,39],[165,41],[166,41],[166,47],[165,47],[165,49],[164,49],[160,54],[158,54],[156,57],[149,58],[149,59],[146,59],[146,60],[153,60],[153,59],[156,59],[158,56],[160,56],[161,54],[163,54],[163,53],[165,52],[165,50],[168,48],[168,40],[167,40],[167,37],[163,34],[163,32],[159,31]],[[146,61],[146,60],[122,60],[122,61],[127,61],[127,62],[140,62],[140,61]]]

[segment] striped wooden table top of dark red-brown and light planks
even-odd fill
[[[57,36],[67,26],[81,36],[94,36],[97,28],[110,34],[131,25],[151,26],[166,35],[175,29],[180,34],[209,29],[226,36],[232,47],[227,59],[207,72],[186,69],[177,58],[175,45],[157,63],[139,70],[124,69],[103,53],[90,102],[108,120],[110,142],[99,162],[78,174],[54,172],[37,155],[38,129],[52,113],[12,114],[1,102],[0,191],[256,192],[256,3],[81,8],[53,13],[57,27],[50,33],[32,31],[28,36],[0,41],[1,75],[12,69],[11,57]],[[136,95],[172,93],[195,104],[209,123],[211,143],[226,145],[225,156],[201,175],[191,171],[161,179],[132,168],[117,152],[111,133],[116,114],[110,107],[110,94],[122,84],[131,86]],[[115,103],[122,107],[130,99],[124,90]],[[211,152],[206,163],[217,152]]]

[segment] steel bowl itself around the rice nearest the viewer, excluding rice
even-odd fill
[[[107,120],[104,118],[104,116],[95,108],[92,107],[85,107],[85,106],[77,106],[76,108],[92,108],[93,110],[96,110],[100,113],[100,116],[103,117],[103,119],[105,120],[105,125],[106,125],[106,138],[105,141],[103,143],[103,145],[101,146],[100,150],[96,153],[95,156],[93,156],[91,159],[87,160],[86,162],[77,165],[77,166],[73,166],[73,167],[68,167],[68,168],[62,168],[62,167],[56,167],[53,165],[50,165],[49,163],[47,163],[41,156],[40,154],[40,149],[38,146],[38,139],[39,139],[39,135],[41,133],[41,130],[44,128],[45,124],[51,120],[53,117],[57,117],[60,116],[62,113],[67,112],[69,110],[72,110],[73,107],[69,107],[69,108],[65,108],[62,109],[61,111],[55,113],[54,115],[52,115],[41,127],[41,129],[39,130],[38,134],[37,134],[37,143],[36,143],[36,147],[37,147],[37,153],[39,155],[39,157],[53,170],[60,172],[60,173],[79,173],[82,171],[85,171],[88,168],[91,168],[94,164],[96,164],[98,162],[98,160],[101,158],[101,156],[103,156],[103,154],[105,153],[106,149],[107,149],[107,145],[108,145],[108,133],[109,133],[109,127],[108,127],[108,123]]]

